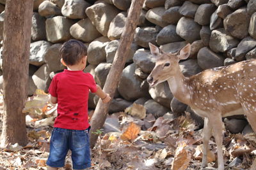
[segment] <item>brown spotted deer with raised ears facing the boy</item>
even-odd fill
[[[166,53],[149,43],[156,65],[147,77],[150,86],[168,81],[174,97],[204,118],[202,168],[207,167],[209,139],[217,145],[218,169],[224,169],[222,117],[245,115],[256,132],[256,60],[214,67],[185,77],[179,61],[188,59],[191,45],[176,53]],[[251,170],[256,170],[256,159]]]

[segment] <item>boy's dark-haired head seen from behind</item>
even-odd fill
[[[60,48],[60,57],[68,66],[78,64],[86,55],[86,46],[76,39],[68,40]]]

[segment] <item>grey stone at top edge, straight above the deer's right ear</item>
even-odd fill
[[[185,1],[179,9],[181,15],[185,17],[195,17],[196,10],[198,8],[198,4],[193,4],[189,1]]]

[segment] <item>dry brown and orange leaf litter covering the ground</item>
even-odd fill
[[[1,169],[47,169],[56,104],[49,103],[49,95],[36,90],[28,98],[23,112],[29,143],[18,144],[0,150]],[[3,115],[3,95],[0,95],[0,114]],[[92,117],[93,111],[89,111]],[[124,112],[113,113],[108,118],[118,120],[115,132],[99,136],[92,152],[89,169],[200,169],[202,162],[202,129],[185,113],[173,117],[166,113],[155,118],[140,104],[132,104]],[[89,118],[90,120],[90,118]],[[2,118],[0,121],[2,125]],[[230,134],[223,129],[223,153],[225,169],[247,169],[256,155],[255,134]],[[72,169],[71,153],[68,152],[65,167]],[[209,141],[207,160],[209,167],[216,167],[216,143]],[[100,161],[99,161],[100,158]]]

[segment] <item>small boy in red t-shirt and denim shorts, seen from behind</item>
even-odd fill
[[[56,74],[49,87],[51,102],[58,103],[58,116],[51,136],[48,170],[63,167],[69,149],[74,169],[86,169],[91,164],[87,106],[89,90],[99,96],[103,103],[108,103],[111,98],[96,85],[92,74],[83,72],[86,51],[86,46],[75,39],[67,41],[60,49],[61,63],[67,69]]]

